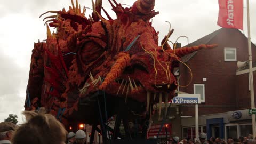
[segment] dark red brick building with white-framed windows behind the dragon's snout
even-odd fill
[[[237,29],[221,28],[190,43],[218,44],[210,50],[201,50],[182,58],[192,70],[193,79],[189,86],[179,91],[201,94],[199,111],[199,132],[207,137],[237,138],[251,133],[251,107],[249,89],[249,67],[237,69],[237,61],[248,60],[247,37]],[[182,48],[181,48],[182,49]],[[252,59],[256,61],[256,46],[252,44]],[[254,89],[256,89],[256,63],[253,65]],[[180,65],[179,85],[190,81],[189,69]],[[256,95],[256,94],[254,94]],[[181,137],[195,137],[195,105],[179,105]]]

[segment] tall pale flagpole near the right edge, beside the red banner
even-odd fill
[[[253,90],[253,72],[252,72],[252,46],[251,46],[251,31],[250,31],[250,13],[249,13],[249,0],[247,0],[247,26],[248,26],[248,54],[249,54],[249,81],[251,87],[251,108],[254,109],[254,90]],[[252,135],[256,136],[256,119],[255,114],[252,114]]]

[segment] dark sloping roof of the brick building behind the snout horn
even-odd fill
[[[220,31],[222,30],[223,28],[220,28],[216,31],[214,31],[213,33],[209,34],[209,35],[206,35],[200,39],[197,39],[197,41],[193,42],[193,43],[190,43],[184,47],[190,47],[190,46],[196,46],[196,45],[200,45],[200,44],[208,44],[215,36],[217,36]],[[181,48],[182,49],[182,48]],[[194,57],[194,55],[197,53],[197,51],[193,52],[193,53],[190,53],[188,55],[185,55],[184,57],[181,58],[181,60],[183,62],[187,62],[189,61],[191,58]]]

